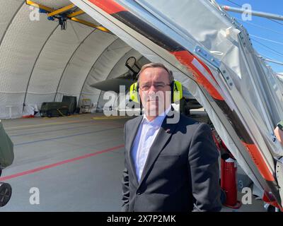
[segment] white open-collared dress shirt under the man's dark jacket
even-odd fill
[[[134,139],[134,144],[132,146],[132,160],[134,162],[134,167],[136,169],[138,182],[141,179],[141,174],[146,163],[146,158],[149,155],[149,149],[161,127],[166,114],[170,111],[171,106],[166,109],[165,114],[159,115],[154,120],[149,121],[146,115],[141,120],[139,125],[139,130],[137,131],[137,136]]]

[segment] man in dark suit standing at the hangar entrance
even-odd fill
[[[221,210],[212,132],[171,107],[173,80],[163,64],[146,64],[139,73],[145,114],[125,124],[122,211]]]

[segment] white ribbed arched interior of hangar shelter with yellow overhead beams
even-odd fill
[[[66,6],[67,25],[56,18],[62,11],[48,15]],[[78,106],[83,98],[100,106],[103,91],[91,84],[127,73],[129,57],[148,61],[70,1],[0,0],[0,8],[0,118],[10,111],[21,117],[24,104],[40,108],[63,95],[76,96]]]

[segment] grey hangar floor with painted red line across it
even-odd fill
[[[192,112],[195,119],[206,121],[203,113]],[[2,120],[14,143],[15,160],[0,178],[13,188],[0,212],[120,211],[123,126],[128,119],[80,114]],[[32,188],[39,189],[38,205],[30,204]],[[253,201],[237,211],[264,211],[262,206]]]

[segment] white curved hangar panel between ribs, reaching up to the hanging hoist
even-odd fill
[[[64,31],[57,27],[43,47],[30,75],[28,93],[56,93],[68,60],[91,32],[78,23],[69,22],[68,26]]]

